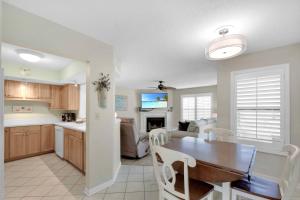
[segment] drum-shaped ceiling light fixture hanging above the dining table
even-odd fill
[[[224,60],[244,53],[247,49],[247,41],[243,35],[227,35],[228,28],[219,30],[220,38],[213,40],[205,48],[205,56],[208,60]]]

